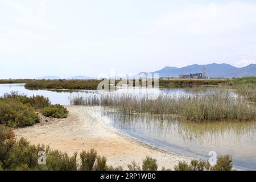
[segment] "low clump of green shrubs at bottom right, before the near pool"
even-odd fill
[[[232,157],[230,155],[220,156],[214,166],[210,166],[207,161],[191,160],[190,164],[180,162],[174,167],[175,171],[232,171],[232,168]]]

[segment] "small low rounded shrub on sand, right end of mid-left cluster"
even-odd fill
[[[61,105],[51,105],[42,110],[42,114],[46,117],[53,118],[67,118],[68,110],[64,106]]]

